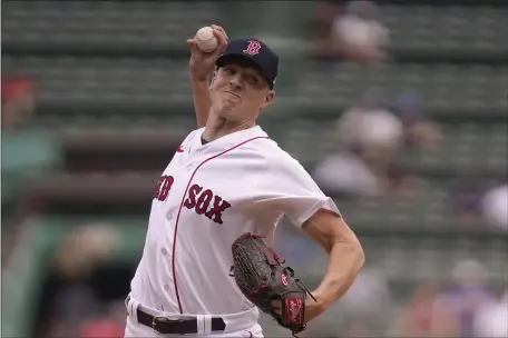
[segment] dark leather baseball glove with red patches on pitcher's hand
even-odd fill
[[[233,242],[232,251],[231,276],[245,297],[293,336],[305,330],[305,297],[307,292],[314,297],[264,237],[243,233]],[[281,301],[281,314],[275,311],[274,300]]]

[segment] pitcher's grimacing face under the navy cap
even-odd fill
[[[214,112],[229,121],[255,118],[274,96],[261,71],[240,63],[221,67],[211,84]]]

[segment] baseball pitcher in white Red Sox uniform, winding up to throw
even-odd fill
[[[263,337],[260,310],[301,332],[364,261],[333,200],[257,125],[275,98],[279,56],[212,28],[215,51],[187,41],[198,129],[154,185],[125,337]],[[284,215],[329,257],[314,290],[271,247]]]

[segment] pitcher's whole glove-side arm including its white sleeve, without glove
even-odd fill
[[[272,152],[266,168],[253,186],[253,201],[260,210],[284,213],[329,255],[328,271],[312,297],[305,299],[304,321],[314,319],[351,287],[363,266],[362,247],[342,219],[334,201],[326,197],[310,173],[284,152]],[[277,301],[273,310],[282,310]]]

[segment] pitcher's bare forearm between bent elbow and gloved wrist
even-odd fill
[[[315,290],[324,311],[351,287],[365,258],[358,241],[335,242],[329,252],[328,271]]]

